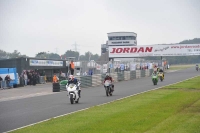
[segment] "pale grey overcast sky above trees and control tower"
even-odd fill
[[[138,45],[200,38],[200,0],[0,0],[0,49],[100,54],[109,32],[135,32]]]

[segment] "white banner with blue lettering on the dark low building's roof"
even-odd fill
[[[63,61],[30,59],[30,66],[63,66]]]

